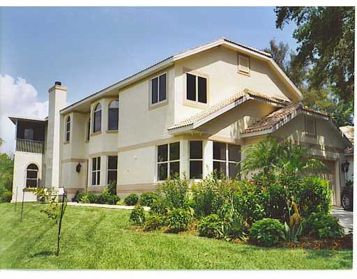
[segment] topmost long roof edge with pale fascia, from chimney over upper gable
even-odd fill
[[[204,45],[199,45],[197,47],[192,47],[189,50],[185,50],[183,52],[179,52],[177,54],[174,54],[172,56],[168,56],[167,58],[163,59],[162,61],[159,61],[157,63],[153,63],[153,65],[144,68],[143,70],[139,70],[139,72],[130,75],[129,77],[124,78],[123,80],[120,80],[119,82],[116,82],[110,86],[107,86],[105,89],[102,89],[96,93],[93,93],[92,95],[83,98],[82,100],[77,101],[76,103],[73,103],[72,105],[69,105],[68,107],[63,108],[61,110],[61,113],[66,113],[69,112],[70,110],[74,109],[77,105],[81,105],[82,103],[85,103],[87,101],[92,101],[100,98],[101,96],[105,95],[105,93],[113,90],[113,89],[121,89],[124,86],[128,86],[129,84],[132,84],[133,82],[137,82],[137,80],[141,80],[144,77],[147,77],[155,72],[158,72],[159,70],[162,70],[164,68],[167,68],[169,66],[172,66],[175,61],[178,61],[180,59],[183,59],[185,57],[188,57],[190,55],[197,54],[199,52],[204,52],[205,50],[209,50],[213,47],[218,47],[219,45],[225,45],[233,50],[243,52],[248,55],[256,56],[257,58],[267,61],[278,73],[278,75],[284,80],[292,89],[292,91],[295,93],[296,98],[298,100],[302,100],[303,96],[301,92],[296,88],[296,86],[289,80],[289,77],[285,75],[285,73],[282,71],[282,69],[279,68],[278,64],[275,63],[273,60],[271,54],[267,52],[263,52],[261,50],[257,50],[254,47],[248,47],[247,45],[243,45],[241,43],[237,43],[234,40],[229,40],[227,38],[219,38],[218,40],[213,40],[210,43],[206,43]]]

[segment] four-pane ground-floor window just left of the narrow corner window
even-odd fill
[[[180,173],[180,142],[158,145],[158,181]]]

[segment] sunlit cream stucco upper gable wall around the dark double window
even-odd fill
[[[250,76],[238,73],[237,52],[226,47],[214,47],[175,63],[175,122],[181,121],[199,108],[184,105],[185,73],[194,71],[208,79],[208,105],[218,103],[245,88],[285,100],[293,93],[278,78],[268,63],[250,57]]]

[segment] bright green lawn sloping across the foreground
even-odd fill
[[[134,232],[130,211],[68,206],[57,227],[40,206],[0,204],[0,269],[351,269],[351,250],[259,248],[191,235]]]

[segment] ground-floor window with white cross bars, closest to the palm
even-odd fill
[[[213,170],[217,172],[218,178],[226,176],[234,179],[240,170],[240,160],[240,145],[213,142]]]

